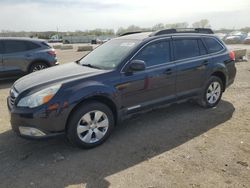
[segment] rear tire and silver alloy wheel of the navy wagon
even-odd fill
[[[204,108],[213,108],[221,100],[223,84],[219,77],[211,76],[202,91],[198,104]]]

